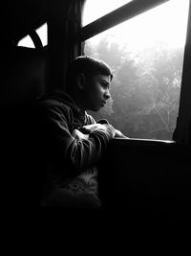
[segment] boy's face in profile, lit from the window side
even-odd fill
[[[86,110],[98,111],[110,99],[109,92],[111,77],[96,75],[85,80],[84,84],[84,105]]]

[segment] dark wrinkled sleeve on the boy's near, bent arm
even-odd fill
[[[72,119],[69,110],[60,105],[41,105],[39,113],[46,151],[56,164],[69,165],[73,170],[69,175],[74,176],[100,160],[115,131],[105,125],[92,132],[88,139],[76,139],[69,129]]]

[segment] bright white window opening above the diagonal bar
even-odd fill
[[[86,0],[84,13],[82,17],[82,25],[86,26],[101,16],[116,10],[117,8],[132,2],[133,0],[117,0],[117,1],[95,1]]]

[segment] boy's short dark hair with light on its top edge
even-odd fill
[[[112,70],[105,61],[89,56],[80,56],[74,59],[68,69],[66,76],[67,89],[74,85],[76,75],[80,73],[83,73],[87,78],[101,74],[110,76],[111,80],[113,79]]]

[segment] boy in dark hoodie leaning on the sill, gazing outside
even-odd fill
[[[100,207],[96,166],[109,142],[125,136],[106,120],[96,123],[86,110],[106,104],[112,79],[105,62],[78,57],[67,73],[66,92],[38,99],[38,132],[47,165],[41,205]]]

